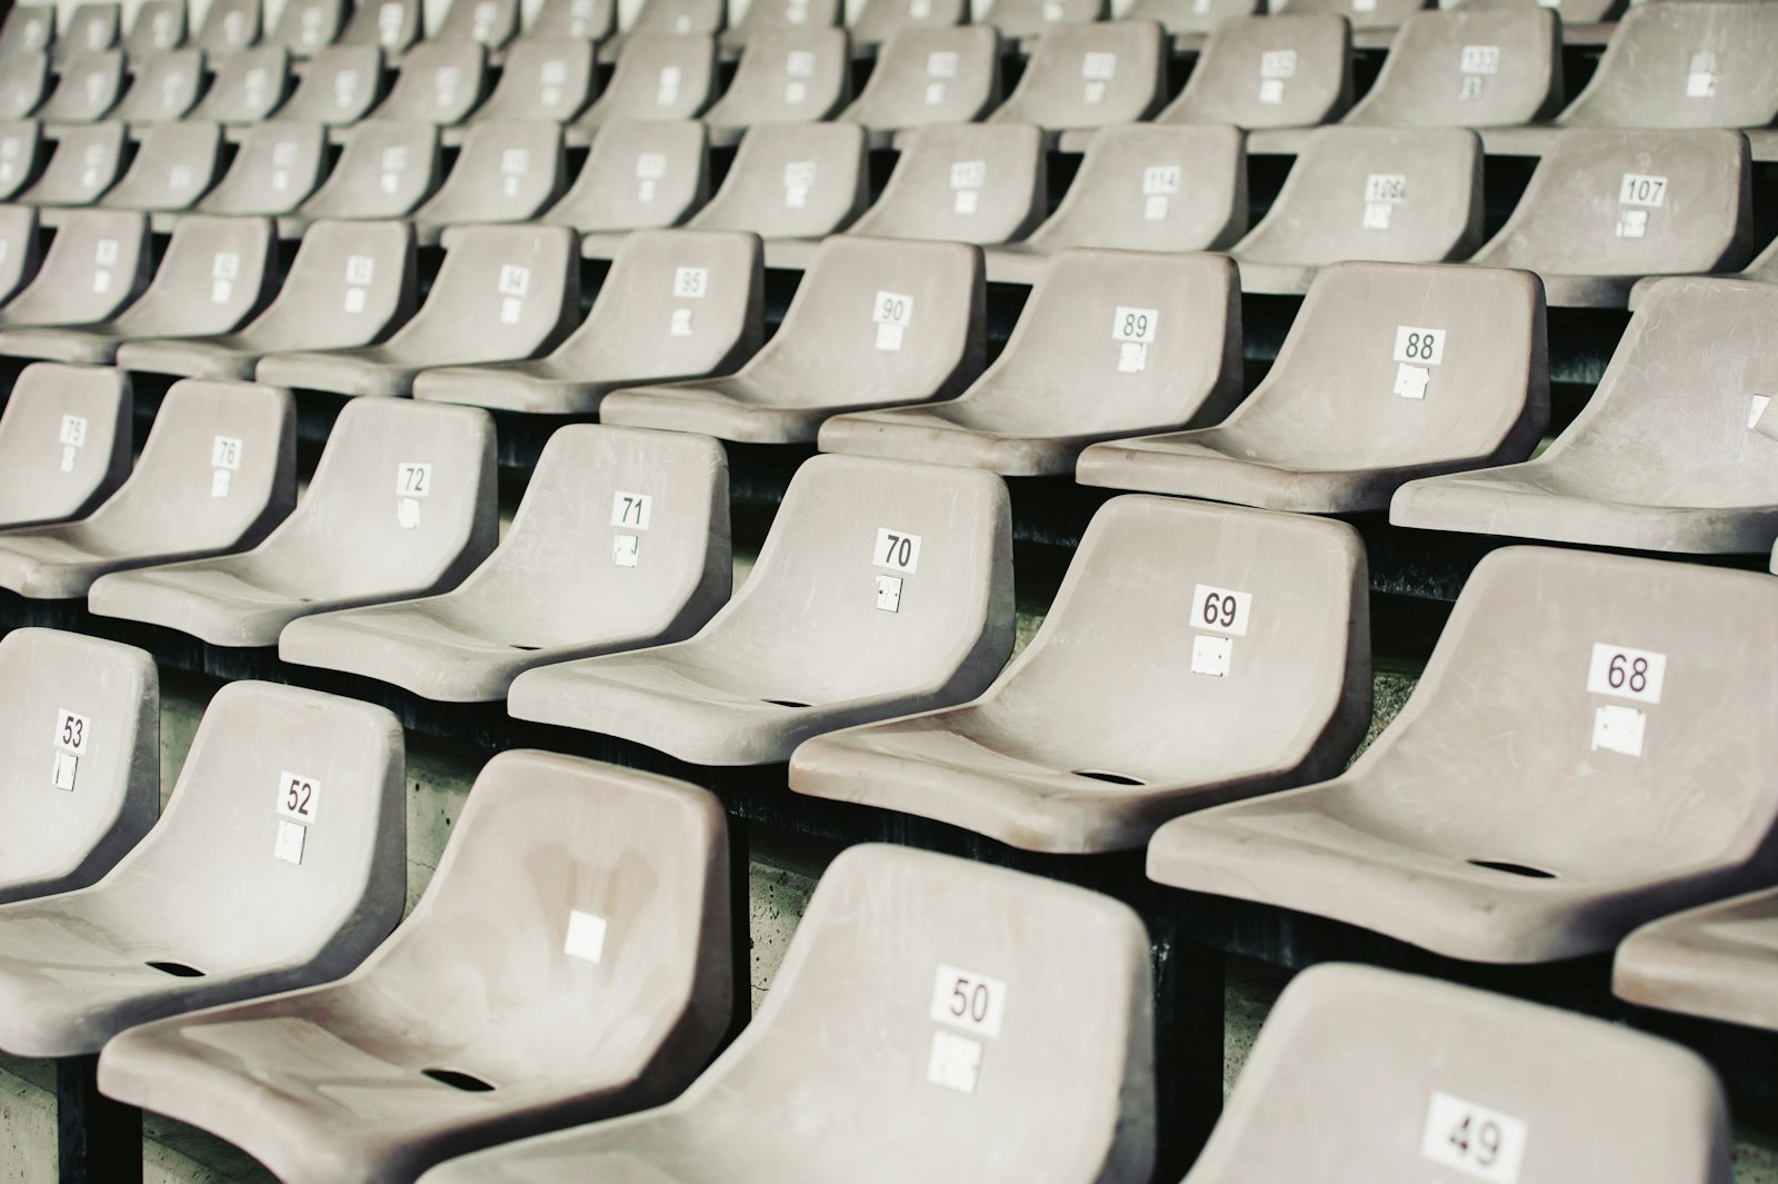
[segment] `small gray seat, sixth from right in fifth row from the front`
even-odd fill
[[[725,148],[761,124],[832,119],[850,100],[852,46],[845,28],[756,32],[729,89],[704,112],[704,124],[711,144]]]

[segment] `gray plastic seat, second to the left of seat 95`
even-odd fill
[[[372,345],[414,311],[414,231],[407,222],[313,224],[272,302],[235,332],[139,338],[117,364],[192,379],[252,379],[267,354]]]

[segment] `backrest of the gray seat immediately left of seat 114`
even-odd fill
[[[1049,203],[1044,130],[1028,123],[910,128],[855,235],[981,245],[1022,238]]]

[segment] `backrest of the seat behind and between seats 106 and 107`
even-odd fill
[[[1346,123],[1510,128],[1561,103],[1561,18],[1549,9],[1414,12]]]

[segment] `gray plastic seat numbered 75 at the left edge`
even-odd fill
[[[0,526],[85,517],[112,496],[130,476],[133,407],[121,370],[25,366],[0,414]]]

